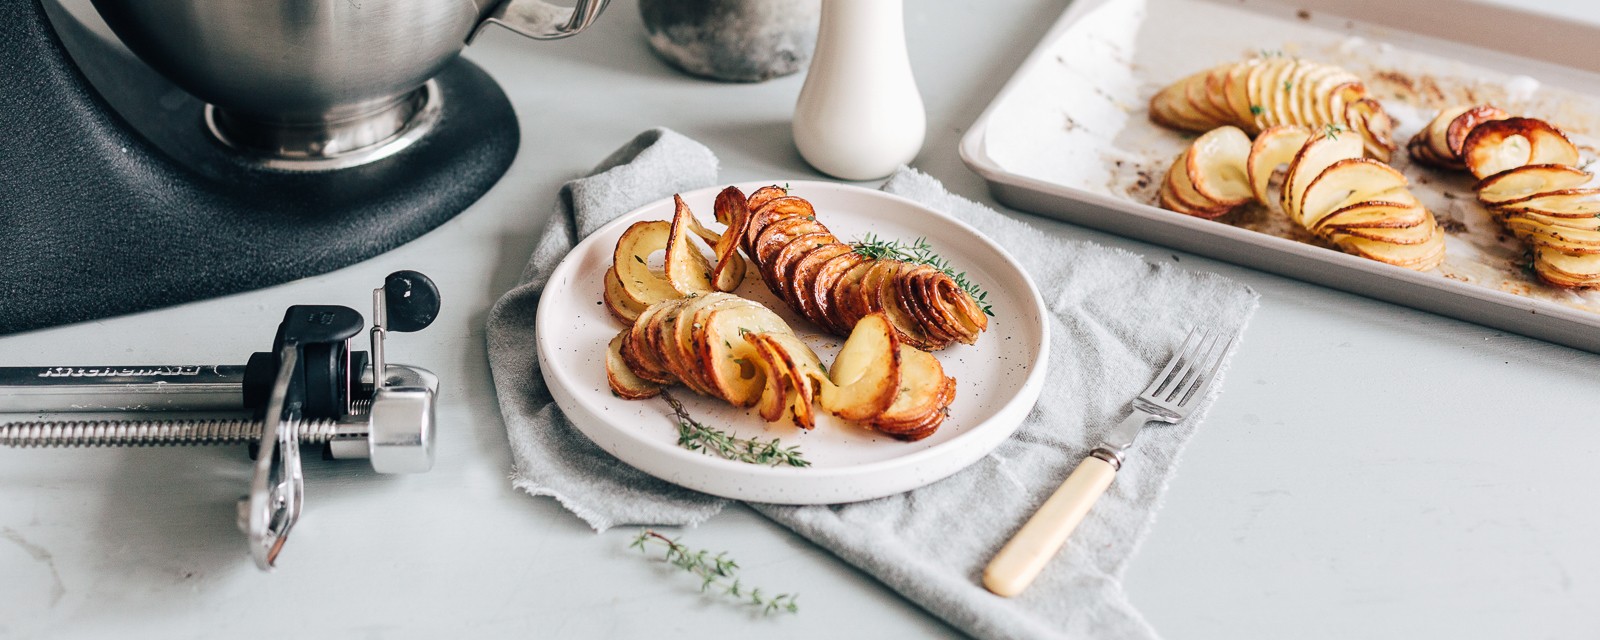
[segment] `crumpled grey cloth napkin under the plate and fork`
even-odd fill
[[[704,146],[667,130],[640,134],[589,178],[562,189],[522,285],[490,312],[490,366],[515,458],[512,483],[555,498],[595,530],[693,525],[715,515],[726,501],[640,474],[562,416],[534,355],[539,291],[578,238],[603,222],[714,184],[717,158]],[[1042,229],[1002,216],[950,195],[915,170],[901,168],[883,190],[981,229],[1022,262],[1051,310],[1045,392],[1014,437],[946,480],[843,506],[752,507],[978,637],[1157,637],[1126,602],[1122,573],[1221,381],[1182,424],[1141,434],[1110,490],[1027,592],[1000,598],[982,589],[979,576],[1000,546],[1126,414],[1128,402],[1189,328],[1205,325],[1240,334],[1256,309],[1256,294],[1213,274],[1067,240],[1054,224]],[[982,512],[974,514],[973,504],[982,504]]]

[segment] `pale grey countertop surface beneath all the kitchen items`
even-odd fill
[[[1526,2],[1533,5],[1531,2]],[[955,144],[1064,2],[909,2],[928,106],[915,166],[990,202]],[[1590,3],[1542,5],[1589,21]],[[747,582],[802,594],[763,619],[510,488],[483,320],[560,184],[650,126],[712,147],[728,182],[816,178],[789,117],[802,78],[718,85],[666,69],[634,2],[590,32],[467,51],[506,88],[522,150],[442,229],[334,274],[0,339],[0,363],[243,362],[282,309],[368,306],[395,269],[445,310],[392,360],[443,379],[438,464],[376,477],[310,461],[275,574],[234,528],[240,450],[0,451],[0,637],[926,637],[954,635],[870,578],[734,507],[683,533]],[[14,171],[16,168],[6,168]],[[1024,214],[1019,214],[1024,216]],[[1026,216],[1034,224],[1058,222]],[[1600,637],[1600,357],[1074,229],[1216,270],[1262,306],[1221,402],[1131,563],[1131,602],[1171,638]],[[1048,392],[1048,390],[1046,390]]]

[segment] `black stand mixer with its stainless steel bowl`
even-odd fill
[[[138,59],[40,0],[0,6],[3,334],[323,274],[443,224],[518,142],[461,48],[490,22],[566,37],[605,0],[96,0]]]

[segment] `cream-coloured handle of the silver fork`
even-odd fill
[[[1062,482],[1061,488],[1050,494],[1038,512],[1027,518],[1027,523],[1000,549],[1000,554],[989,560],[984,587],[1010,598],[1034,584],[1034,578],[1050,558],[1056,557],[1114,477],[1117,467],[1099,458],[1090,456],[1078,462],[1072,475],[1067,475],[1067,482]]]

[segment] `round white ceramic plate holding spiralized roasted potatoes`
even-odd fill
[[[763,184],[739,184],[746,194]],[[1027,274],[973,227],[912,200],[832,182],[795,182],[790,192],[811,200],[818,219],[842,240],[867,232],[912,242],[926,237],[939,254],[989,291],[994,314],[976,346],[938,352],[957,379],[950,416],[920,442],[899,442],[818,411],[818,427],[765,422],[754,411],[674,387],[690,413],[707,426],[741,437],[782,438],[800,445],[810,467],[766,467],[725,461],[677,446],[672,411],[661,398],[622,400],[605,379],[605,346],[624,326],[600,301],[602,275],[616,240],[637,221],[670,219],[672,200],[635,210],[581,242],[550,277],[534,320],[539,366],[562,411],[624,462],[658,478],[715,496],[778,502],[835,504],[882,498],[941,480],[998,446],[1034,408],[1045,381],[1050,349],[1045,306]],[[712,200],[722,187],[682,194],[701,221],[712,224]],[[752,269],[738,294],[773,309],[805,338],[822,362],[843,339],[778,301]]]

